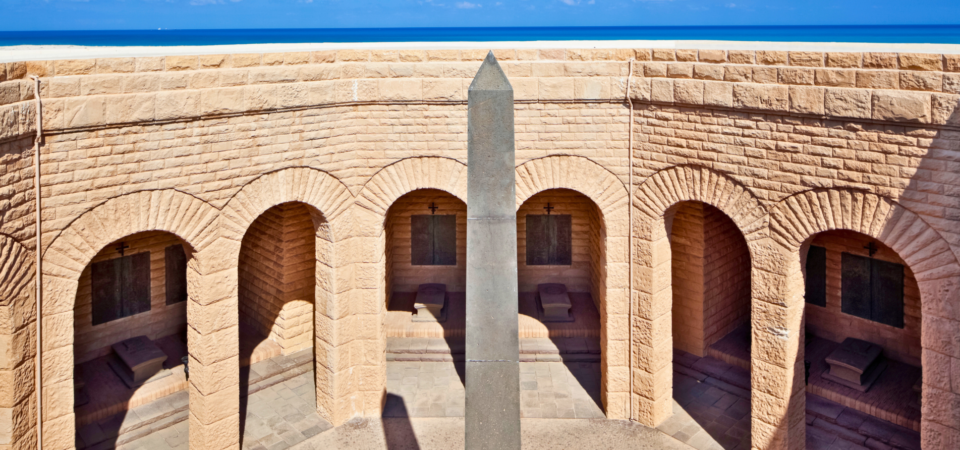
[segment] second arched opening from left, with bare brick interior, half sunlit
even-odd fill
[[[314,305],[329,279],[324,216],[300,202],[264,211],[237,265],[242,446],[292,444],[331,425],[317,413]],[[282,401],[272,401],[276,399]],[[288,436],[278,434],[289,431]],[[312,434],[311,434],[312,433]]]

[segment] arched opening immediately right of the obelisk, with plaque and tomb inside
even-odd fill
[[[606,237],[603,212],[571,189],[540,191],[517,209],[521,417],[604,417]],[[562,286],[570,302],[557,317],[548,314],[547,286]]]

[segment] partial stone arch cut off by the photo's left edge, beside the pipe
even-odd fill
[[[11,318],[0,325],[0,340],[6,342],[29,341],[32,328],[36,326],[36,284],[34,280],[34,253],[19,241],[0,234],[0,315]],[[0,372],[5,379],[16,380],[15,389],[5,389],[0,394],[0,428],[5,430],[0,445],[35,441],[36,414],[31,413],[34,395],[34,379],[17,380],[18,375],[33,374],[33,358],[24,345],[10,345],[6,355],[0,357]],[[25,367],[26,366],[26,367]],[[9,376],[12,374],[12,376]],[[15,419],[20,418],[20,419]],[[4,439],[5,438],[5,439]]]

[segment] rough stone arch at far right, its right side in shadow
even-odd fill
[[[803,262],[811,241],[820,233],[836,230],[876,239],[896,252],[912,271],[920,293],[923,322],[921,439],[925,447],[949,446],[948,436],[956,433],[956,422],[951,418],[954,409],[948,405],[960,400],[960,388],[945,378],[948,367],[960,361],[960,347],[955,344],[956,330],[960,328],[960,264],[956,255],[922,217],[889,198],[855,189],[797,193],[780,201],[770,212],[771,238],[783,251],[785,280],[778,291],[788,302],[787,308],[803,311]],[[788,316],[794,318],[784,324],[786,328],[799,331],[802,314]],[[804,348],[799,342],[800,333],[789,335],[791,342],[786,352],[778,352],[785,353],[779,359],[786,363],[784,367],[802,372]],[[799,391],[803,392],[803,386]],[[803,405],[791,401],[791,414],[802,411]]]

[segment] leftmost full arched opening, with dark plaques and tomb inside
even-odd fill
[[[107,244],[81,272],[73,323],[78,448],[122,445],[161,425],[185,435],[194,256],[178,236],[144,231]]]

